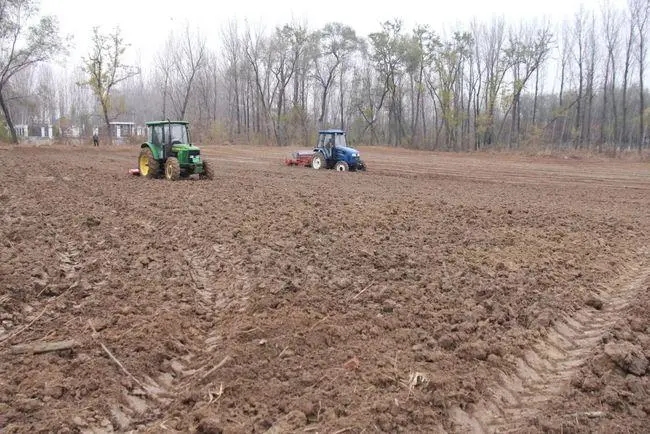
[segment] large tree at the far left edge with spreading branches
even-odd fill
[[[0,108],[14,143],[18,136],[5,100],[7,86],[20,71],[65,51],[57,21],[39,19],[37,5],[35,0],[0,1]]]

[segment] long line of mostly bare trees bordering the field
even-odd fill
[[[342,23],[271,30],[231,21],[218,41],[186,26],[146,65],[119,28],[95,28],[81,65],[35,0],[0,0],[0,108],[13,125],[186,119],[208,140],[358,143],[436,150],[648,146],[650,0],[607,1],[560,23],[472,21],[451,32],[399,19],[367,36]],[[218,48],[211,48],[212,45]]]

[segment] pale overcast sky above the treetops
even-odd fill
[[[609,2],[621,7],[626,3]],[[602,0],[41,0],[41,13],[57,16],[62,33],[73,36],[70,61],[76,64],[88,52],[94,26],[104,31],[119,26],[132,46],[129,55],[139,52],[142,59],[147,59],[161,49],[170,30],[181,29],[186,23],[205,35],[210,46],[216,46],[221,27],[231,20],[262,23],[268,29],[292,21],[316,29],[338,21],[365,37],[380,30],[381,22],[393,18],[401,18],[406,30],[416,24],[429,24],[442,33],[445,28],[458,29],[474,18],[560,21],[571,17],[581,4],[586,9],[599,9]]]

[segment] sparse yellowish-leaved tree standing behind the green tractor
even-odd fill
[[[101,105],[109,145],[112,144],[111,119],[120,112],[112,104],[112,92],[117,84],[140,73],[136,68],[124,64],[123,56],[128,46],[119,27],[106,35],[95,27],[91,52],[83,59],[87,80],[81,84],[90,86]]]

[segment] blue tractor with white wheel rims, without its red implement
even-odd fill
[[[314,148],[311,167],[316,170],[334,169],[339,172],[366,170],[366,164],[359,158],[359,151],[347,146],[343,130],[318,132],[318,144]]]

